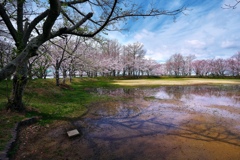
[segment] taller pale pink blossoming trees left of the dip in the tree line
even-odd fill
[[[8,52],[11,53],[10,44]],[[7,64],[9,55],[1,49],[1,67]],[[52,69],[59,85],[59,77],[68,76],[141,76],[161,74],[160,64],[145,58],[146,51],[141,43],[121,45],[117,40],[83,39],[66,36],[49,41],[40,47],[37,56],[28,62],[30,78],[46,78]]]

